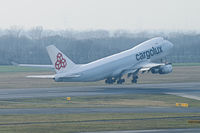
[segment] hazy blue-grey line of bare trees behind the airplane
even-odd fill
[[[162,36],[174,44],[167,57],[172,63],[200,62],[200,34],[180,32],[49,31],[35,27],[0,30],[0,64],[50,64],[46,46],[55,45],[75,63],[82,64],[127,50],[152,37]]]

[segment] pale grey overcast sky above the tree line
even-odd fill
[[[200,31],[200,0],[0,0],[0,28]]]

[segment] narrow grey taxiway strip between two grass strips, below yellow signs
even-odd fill
[[[123,107],[123,108],[22,108],[0,109],[0,115],[9,114],[80,114],[80,113],[199,113],[199,108],[178,107]]]

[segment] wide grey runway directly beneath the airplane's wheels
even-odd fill
[[[133,84],[58,88],[0,89],[0,99],[170,93],[200,97],[200,83]]]

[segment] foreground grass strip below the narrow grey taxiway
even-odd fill
[[[0,116],[0,132],[71,133],[109,130],[193,128],[199,113],[105,113]]]

